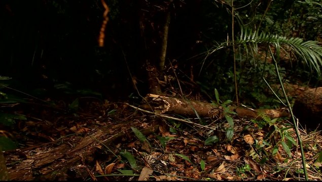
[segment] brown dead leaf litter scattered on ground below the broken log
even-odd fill
[[[175,127],[172,123],[158,120],[155,117],[140,115],[131,117],[127,116],[126,118],[132,119],[131,125],[124,124],[118,128],[116,125],[110,124],[111,134],[126,133],[118,143],[110,146],[114,154],[105,146],[97,145],[96,148],[105,153],[100,157],[95,156],[93,164],[82,165],[82,171],[87,171],[92,180],[129,179],[131,175],[139,180],[286,180],[298,179],[296,175],[301,172],[301,163],[295,162],[300,158],[300,154],[296,152],[296,146],[286,140],[286,137],[284,138],[284,143],[289,146],[292,153],[292,156],[289,157],[284,150],[285,146],[280,143],[282,137],[277,131],[267,135],[269,129],[260,130],[252,126],[247,131],[243,131],[245,122],[235,120],[236,128],[234,128],[232,141],[227,141],[225,132],[217,130],[211,133],[208,131],[211,135],[217,132],[220,142],[205,145],[204,141],[210,134],[206,131],[196,130],[193,126]],[[146,129],[156,121],[160,125],[159,131],[144,136],[138,135],[139,139],[133,135],[130,129],[130,126],[136,127],[138,130]],[[67,125],[61,126],[61,128],[56,128],[56,131],[61,134],[64,132],[88,133],[92,130],[90,123],[94,122],[73,121],[68,127],[66,127]],[[26,130],[30,130],[35,126],[44,127],[39,125],[38,121],[26,122],[24,127]],[[294,130],[285,130],[288,131],[288,137],[296,140]],[[322,138],[319,138],[320,133],[310,135],[302,132],[302,136],[304,136],[307,163],[313,164],[315,162],[315,165],[320,167],[322,159],[317,161],[317,158],[322,158],[318,157],[318,153],[321,151],[320,146],[322,146]],[[46,136],[46,134],[40,137],[52,141],[51,136]],[[273,153],[274,150],[276,152]],[[121,155],[124,151],[127,151],[126,157]],[[136,167],[130,165],[129,159],[136,161]],[[94,166],[90,167],[90,165]],[[315,168],[311,167],[311,169]],[[132,173],[127,176],[126,172]],[[124,176],[113,176],[113,174],[124,174]],[[285,175],[288,176],[283,178]],[[300,173],[300,175],[303,174]],[[316,175],[312,179],[316,179]]]

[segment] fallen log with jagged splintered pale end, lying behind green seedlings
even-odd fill
[[[148,94],[145,99],[149,104],[143,107],[153,110],[156,114],[172,113],[186,116],[196,116],[198,114],[200,117],[213,118],[221,118],[223,116],[223,107],[211,103],[154,94]],[[234,106],[229,107],[229,109],[236,112],[237,116],[249,119],[261,119],[262,114],[271,119],[290,116],[289,112],[285,109],[251,109]]]

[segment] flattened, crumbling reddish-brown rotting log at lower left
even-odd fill
[[[19,159],[21,162],[18,165],[8,168],[10,180],[66,180],[68,168],[81,164],[82,158],[93,154],[97,145],[94,139],[100,139],[103,135],[105,132],[98,130],[79,141],[68,141],[74,143],[75,147],[61,144],[22,153],[19,153],[18,149],[16,154],[26,158]]]

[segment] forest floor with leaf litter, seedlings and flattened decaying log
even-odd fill
[[[4,129],[19,143],[4,153],[11,180],[304,180],[288,118],[234,117],[229,141],[225,117],[190,118],[209,129],[95,98],[34,102],[3,107],[25,116]],[[308,178],[321,180],[321,132],[300,135]]]

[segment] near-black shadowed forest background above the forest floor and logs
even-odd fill
[[[235,2],[235,36],[241,28],[257,28],[261,22],[264,32],[319,40],[321,7],[314,3]],[[2,1],[1,75],[13,78],[7,80],[10,86],[36,97],[57,94],[57,88],[73,87],[90,88],[103,98],[126,99],[137,94],[132,79],[145,95],[149,93],[147,62],[158,61],[162,27],[170,12],[164,74],[173,74],[171,62],[177,68],[177,76],[183,83],[186,81],[187,93],[201,91],[213,98],[213,89],[217,88],[224,97],[234,97],[232,50],[221,51],[204,62],[213,45],[231,39],[230,1],[113,0],[106,4],[110,13],[105,45],[98,47],[104,12],[98,0]],[[301,69],[292,67],[288,74],[299,79],[309,75],[313,84],[320,84],[318,77],[299,66]],[[243,74],[251,73],[248,70]],[[247,85],[252,77],[240,76],[240,87],[244,89],[241,96],[249,93]]]

